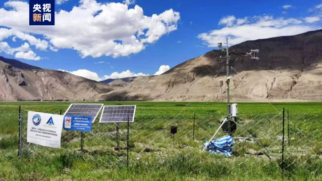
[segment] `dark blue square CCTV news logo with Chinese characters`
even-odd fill
[[[54,0],[29,1],[29,25],[55,25]]]

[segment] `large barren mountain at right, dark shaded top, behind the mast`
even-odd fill
[[[250,49],[259,49],[261,59],[231,56],[233,101],[322,101],[322,30],[247,41],[229,51]],[[221,92],[217,85],[226,78],[225,68],[219,72],[225,64],[220,53],[212,50],[160,76],[138,77],[97,100],[223,101],[225,85]]]

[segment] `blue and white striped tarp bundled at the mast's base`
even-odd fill
[[[209,141],[206,141],[204,143],[204,147],[207,145]],[[233,142],[232,142],[232,137],[227,135],[227,136],[222,136],[216,139],[215,141],[211,141],[206,150],[209,153],[215,153],[219,155],[226,155],[226,156],[231,156],[232,155],[232,147],[233,147]]]

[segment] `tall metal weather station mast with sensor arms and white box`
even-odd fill
[[[218,47],[221,49],[222,52],[225,52],[226,55],[225,56],[221,56],[220,55],[220,58],[225,58],[226,59],[226,92],[227,92],[227,122],[228,122],[228,135],[231,136],[232,132],[231,132],[231,119],[232,119],[232,112],[236,111],[236,114],[237,114],[237,105],[234,105],[236,107],[234,107],[232,109],[231,105],[230,105],[230,96],[229,96],[229,82],[230,82],[230,75],[229,75],[229,68],[230,68],[230,65],[229,65],[229,60],[230,60],[230,54],[234,54],[234,55],[237,55],[237,56],[251,56],[251,59],[256,59],[256,60],[259,60],[260,58],[257,57],[257,53],[260,51],[258,49],[251,49],[251,52],[250,53],[229,53],[229,46],[228,46],[228,38],[226,40],[226,48],[223,48],[222,47],[222,43],[217,43]],[[253,55],[254,53],[254,55]],[[219,80],[220,81],[220,80]],[[222,83],[219,82],[219,86],[222,86]]]

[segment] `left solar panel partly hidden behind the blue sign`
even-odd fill
[[[92,116],[92,123],[94,123],[103,105],[104,104],[70,104],[64,116]]]

